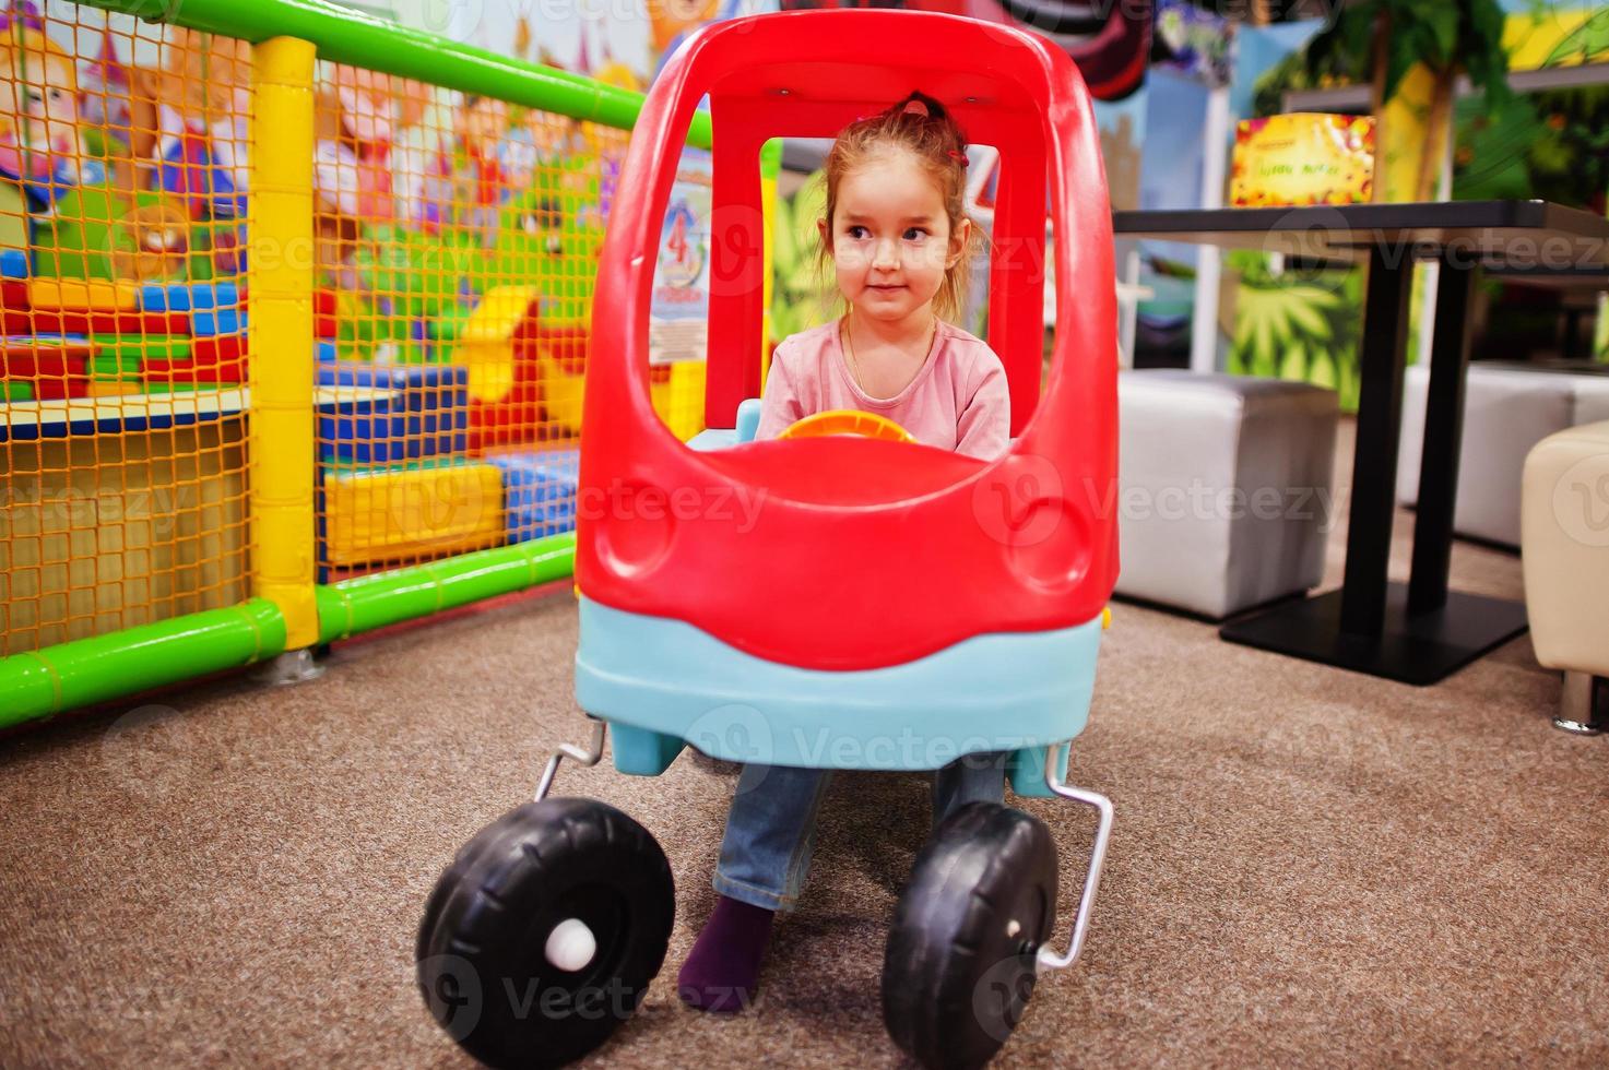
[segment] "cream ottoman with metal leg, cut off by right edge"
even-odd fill
[[[1564,671],[1554,724],[1609,727],[1609,422],[1530,451],[1521,539],[1530,640],[1541,665]]]

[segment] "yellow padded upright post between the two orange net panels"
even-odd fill
[[[314,47],[253,53],[249,185],[251,542],[254,594],[285,616],[285,648],[319,642],[314,600]]]

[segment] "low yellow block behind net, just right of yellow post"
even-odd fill
[[[462,554],[504,537],[496,465],[336,471],[323,489],[330,565]]]

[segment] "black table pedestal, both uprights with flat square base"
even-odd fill
[[[1263,650],[1406,684],[1434,684],[1525,629],[1516,602],[1446,591],[1466,360],[1467,272],[1443,277],[1426,414],[1421,523],[1414,536],[1418,595],[1385,581],[1395,513],[1411,270],[1379,251],[1369,261],[1363,388],[1347,574],[1340,591],[1231,621],[1221,636]],[[1456,325],[1453,325],[1456,323]],[[1443,333],[1443,327],[1446,331]],[[1429,512],[1426,520],[1424,513]],[[1418,602],[1419,608],[1409,605]]]

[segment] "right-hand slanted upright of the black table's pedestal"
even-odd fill
[[[1464,438],[1469,294],[1474,285],[1475,269],[1458,267],[1443,257],[1442,282],[1435,296],[1430,389],[1424,409],[1419,505],[1413,526],[1409,613],[1429,613],[1446,605],[1446,570],[1453,554],[1453,500],[1458,496],[1458,454]]]

